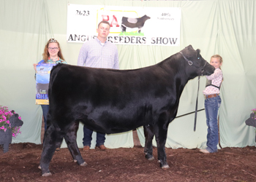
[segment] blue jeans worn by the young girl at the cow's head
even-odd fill
[[[221,103],[222,99],[219,96],[216,98],[206,98],[205,100],[206,124],[208,126],[206,150],[208,150],[210,153],[218,151],[218,111]]]

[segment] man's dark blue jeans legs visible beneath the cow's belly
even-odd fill
[[[83,146],[91,146],[91,135],[93,130],[83,126]],[[96,146],[104,145],[105,143],[105,133],[97,132]]]

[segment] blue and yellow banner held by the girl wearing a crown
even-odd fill
[[[56,64],[38,64],[36,77],[36,104],[48,105],[48,87],[50,82],[50,71]]]

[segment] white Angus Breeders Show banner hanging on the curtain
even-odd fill
[[[179,46],[180,7],[108,7],[68,4],[67,41],[97,37],[99,22],[110,23],[113,44]]]

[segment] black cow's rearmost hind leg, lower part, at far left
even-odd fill
[[[61,141],[62,138],[63,135],[61,135],[59,127],[56,128],[56,126],[50,124],[45,132],[45,141],[39,165],[39,168],[42,170],[42,176],[51,175],[49,170],[50,160],[53,158],[58,141]]]

